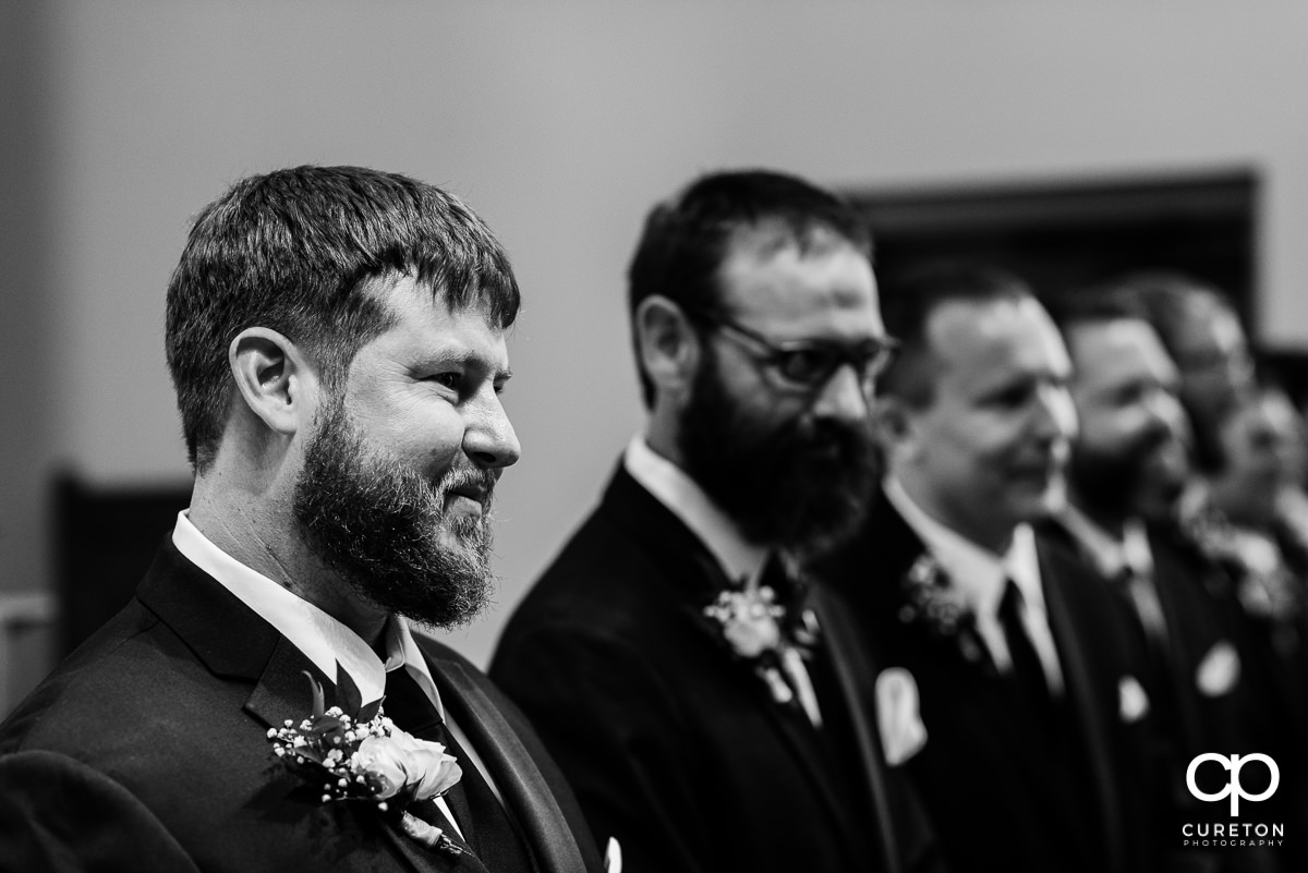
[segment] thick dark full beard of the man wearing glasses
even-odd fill
[[[751,542],[812,557],[852,535],[880,473],[869,426],[752,416],[706,358],[683,412],[685,472]]]

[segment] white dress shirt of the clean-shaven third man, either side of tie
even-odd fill
[[[886,497],[939,562],[948,584],[959,592],[976,616],[977,634],[1001,673],[1012,670],[1008,640],[999,622],[999,601],[1003,600],[1007,580],[1012,579],[1022,592],[1022,625],[1040,657],[1049,687],[1061,693],[1062,667],[1053,631],[1049,630],[1045,591],[1040,579],[1040,557],[1031,525],[1019,524],[1012,532],[1008,552],[998,555],[927,515],[897,480],[886,481]]]

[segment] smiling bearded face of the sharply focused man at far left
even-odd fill
[[[483,312],[451,311],[412,280],[387,302],[395,324],[319,408],[294,512],[361,597],[451,626],[487,601],[490,499],[519,453],[500,404],[508,352]]]

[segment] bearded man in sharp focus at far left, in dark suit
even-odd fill
[[[413,179],[298,167],[200,213],[167,290],[190,510],[0,728],[0,869],[602,869],[522,716],[407,623],[485,601],[518,305]]]

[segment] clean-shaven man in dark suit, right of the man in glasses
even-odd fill
[[[887,282],[882,311],[901,342],[875,409],[884,486],[819,570],[883,669],[882,716],[914,740],[891,763],[955,870],[1156,869],[1138,639],[1033,529],[1076,433],[1058,331],[1020,280],[964,264]]]

